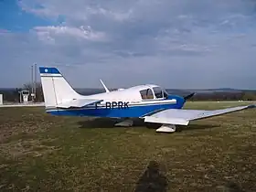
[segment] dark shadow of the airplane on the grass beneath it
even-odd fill
[[[80,128],[123,128],[114,126],[115,123],[120,122],[116,119],[110,118],[94,118],[90,120],[80,121],[78,124]],[[134,120],[133,127],[146,127],[148,129],[157,129],[161,126],[158,123],[144,123],[143,120]],[[189,124],[187,126],[176,126],[176,132],[183,132],[183,131],[192,131],[192,130],[203,130],[203,129],[211,129],[219,127],[219,124]]]

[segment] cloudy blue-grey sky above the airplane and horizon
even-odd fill
[[[0,59],[2,88],[37,63],[76,88],[256,89],[256,1],[0,0]]]

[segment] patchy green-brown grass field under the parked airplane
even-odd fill
[[[219,109],[246,102],[188,102]],[[0,108],[0,191],[256,191],[256,109],[155,133]]]

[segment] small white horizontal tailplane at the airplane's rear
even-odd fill
[[[72,108],[72,107],[81,108],[81,107],[85,107],[87,105],[94,104],[94,103],[101,102],[101,101],[103,101],[103,100],[77,99],[77,100],[59,103],[57,107],[65,108],[65,109]]]

